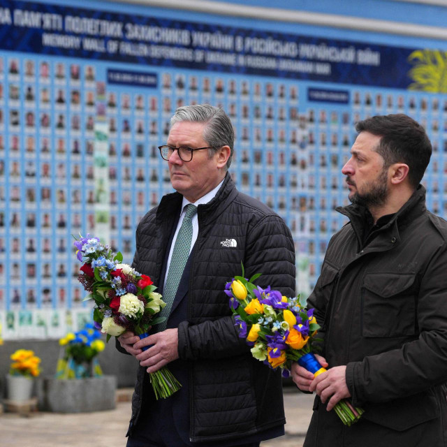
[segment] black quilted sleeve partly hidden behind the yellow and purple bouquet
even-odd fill
[[[244,258],[246,277],[263,273],[257,284],[276,288],[284,295],[295,291],[295,252],[293,239],[284,221],[269,215],[249,230]],[[234,274],[234,273],[233,273]],[[244,339],[231,316],[191,325],[179,325],[179,356],[184,360],[224,358],[247,352]]]

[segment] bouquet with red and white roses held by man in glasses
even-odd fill
[[[145,338],[149,328],[166,319],[155,316],[166,306],[155,292],[156,286],[147,275],[123,264],[121,253],[114,254],[98,237],[90,235],[81,236],[74,245],[78,260],[83,262],[78,279],[89,292],[85,300],[94,300],[94,323],[107,334],[107,341],[126,330]],[[151,373],[150,379],[157,400],[173,395],[181,387],[167,367]]]

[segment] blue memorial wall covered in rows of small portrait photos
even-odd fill
[[[343,40],[318,27],[298,34],[273,22],[232,27],[212,15],[92,5],[0,8],[9,27],[0,43],[3,338],[59,337],[89,319],[73,235],[101,236],[131,263],[138,222],[172,191],[157,146],[182,105],[211,103],[232,119],[230,173],[291,228],[303,297],[345,223],[335,207],[349,203],[341,168],[358,120],[404,112],[425,126],[434,149],[427,205],[446,216],[447,97],[411,74],[418,47],[441,43],[393,47],[360,32]],[[121,33],[107,23],[122,23]],[[261,52],[263,41],[275,44]],[[107,138],[99,164],[98,129]]]

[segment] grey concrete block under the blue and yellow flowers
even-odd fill
[[[115,376],[37,381],[38,408],[55,413],[85,413],[112,410],[116,407]]]

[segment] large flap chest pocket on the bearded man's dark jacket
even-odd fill
[[[414,273],[366,274],[362,286],[363,337],[416,334]]]

